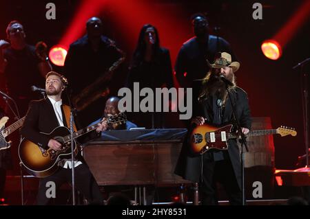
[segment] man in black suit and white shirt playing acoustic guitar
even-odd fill
[[[45,81],[45,91],[48,97],[30,103],[25,122],[21,128],[21,134],[25,139],[36,143],[37,146],[46,150],[51,148],[57,151],[61,150],[63,147],[59,141],[50,139],[40,132],[50,133],[58,126],[68,127],[68,116],[65,116],[68,115],[68,113],[65,113],[68,106],[63,105],[61,100],[61,93],[64,89],[65,84],[59,73],[50,71],[46,75]],[[96,128],[96,132],[101,132],[106,128],[106,122],[102,122],[101,126]],[[59,169],[54,174],[45,178],[40,178],[39,193],[37,196],[38,205],[47,205],[51,198],[55,198],[47,196],[46,191],[50,187],[48,183],[53,182],[54,185],[56,185],[56,195],[57,189],[59,189],[63,183],[70,183],[72,173],[70,170],[72,168],[70,159],[61,159],[58,165]],[[82,163],[81,159],[76,158],[74,161],[74,168],[76,189],[78,189],[90,203],[102,204],[103,196],[87,165]]]

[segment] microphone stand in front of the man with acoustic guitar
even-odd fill
[[[71,167],[72,167],[72,205],[75,205],[75,177],[74,177],[74,138],[73,138],[73,133],[74,133],[74,128],[73,128],[73,121],[74,121],[74,113],[76,112],[76,109],[73,107],[70,94],[69,94],[69,89],[67,89],[67,98],[70,106],[70,134],[71,134]]]

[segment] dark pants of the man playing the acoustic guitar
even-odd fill
[[[75,187],[81,192],[81,194],[87,199],[90,204],[103,205],[103,196],[100,192],[99,186],[96,183],[94,176],[90,172],[90,169],[82,163],[74,169]],[[48,182],[55,183],[56,197],[59,194],[59,188],[63,183],[72,183],[72,170],[59,168],[55,174],[51,176],[41,178],[39,183],[39,192],[37,195],[37,205],[48,205],[50,200],[56,197],[50,197],[51,185]],[[47,195],[49,197],[47,197]]]

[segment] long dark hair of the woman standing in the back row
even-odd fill
[[[156,36],[156,41],[153,45],[153,54],[152,54],[153,57],[152,57],[152,59],[156,61],[156,58],[158,57],[158,54],[159,54],[159,51],[161,48],[159,36],[158,36],[158,31],[157,31],[156,27],[154,27],[153,25],[145,24],[141,28],[139,38],[138,38],[138,43],[136,45],[136,49],[134,50],[134,56],[132,58],[132,63],[130,65],[130,67],[136,67],[141,62],[143,62],[143,58],[145,56],[145,49],[146,49],[146,45],[145,45],[145,41],[144,41],[145,32],[146,32],[147,28],[149,28],[149,27],[154,28],[154,32],[155,32],[155,36]]]

